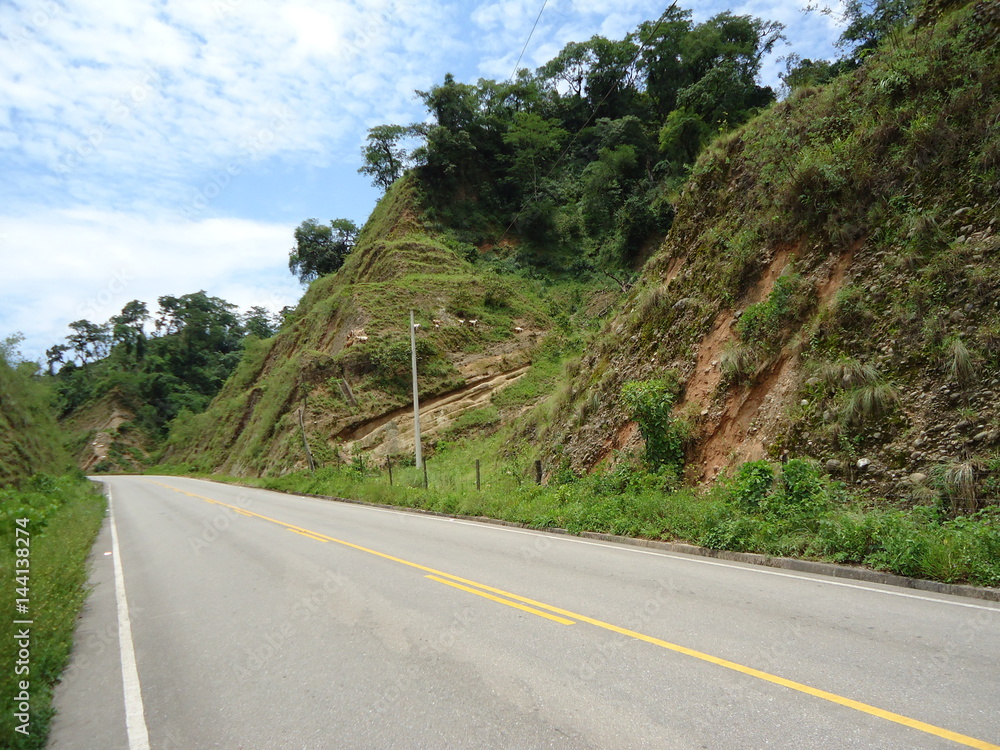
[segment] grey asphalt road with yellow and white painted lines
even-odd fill
[[[1000,743],[996,604],[105,481],[57,750]]]

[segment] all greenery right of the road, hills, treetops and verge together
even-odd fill
[[[676,8],[507,83],[447,76],[419,94],[429,124],[370,131],[361,171],[387,192],[352,251],[165,460],[996,585],[996,13],[944,7],[848,3],[845,57],[791,60],[780,103],[756,82],[777,25]],[[340,454],[408,404],[411,309],[427,396],[477,357],[531,364],[427,446],[426,492]],[[538,337],[516,356],[515,327]],[[633,426],[642,458],[616,450]],[[682,488],[709,438],[719,463],[745,440],[788,460]]]

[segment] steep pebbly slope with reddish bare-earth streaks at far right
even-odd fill
[[[954,503],[996,497],[998,7],[717,140],[540,442],[588,469],[638,446],[622,386],[673,371],[691,480],[801,456],[889,497],[948,472]]]

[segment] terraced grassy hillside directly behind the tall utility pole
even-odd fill
[[[550,289],[543,301],[541,282],[472,262],[474,247],[421,214],[414,181],[397,182],[344,267],[311,284],[291,325],[250,346],[205,413],[175,426],[164,460],[281,474],[308,466],[303,434],[320,464],[411,454],[410,310],[428,445],[516,381],[568,300]]]

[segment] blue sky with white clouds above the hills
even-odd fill
[[[295,227],[364,222],[380,196],[357,172],[365,135],[426,119],[415,90],[449,72],[507,79],[522,48],[534,69],[667,4],[5,0],[0,339],[23,333],[23,355],[42,359],[72,321],[199,290],[241,310],[295,304]],[[696,22],[784,23],[762,73],[775,89],[779,57],[835,57],[836,25],[798,4],[679,5]]]

